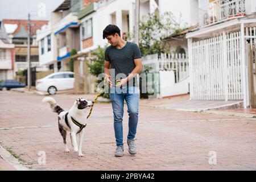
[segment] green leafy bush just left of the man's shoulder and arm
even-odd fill
[[[89,73],[98,77],[101,73],[104,73],[104,61],[105,61],[105,50],[107,46],[104,48],[101,48],[98,46],[98,48],[95,51],[91,51],[92,58],[90,58],[90,62],[86,63],[89,68]],[[96,81],[96,90],[98,84],[103,80],[97,80]],[[102,95],[104,98],[109,98],[109,94],[104,93]]]

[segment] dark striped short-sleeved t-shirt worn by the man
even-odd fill
[[[129,76],[135,68],[135,59],[141,59],[141,51],[135,43],[126,42],[125,47],[121,49],[115,48],[114,46],[107,47],[105,51],[105,60],[110,61],[110,75],[112,76],[112,82]],[[112,69],[115,70],[114,75],[112,74]],[[113,76],[115,76],[116,79]],[[113,85],[115,85],[114,82]],[[137,77],[134,77],[129,81],[129,86],[138,86]]]

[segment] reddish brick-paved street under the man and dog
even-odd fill
[[[94,106],[86,126],[84,157],[64,153],[57,114],[41,102],[44,96],[0,92],[0,145],[32,170],[255,170],[256,119],[139,107],[138,154],[114,157],[110,104]],[[53,96],[67,110],[81,95]],[[126,111],[127,109],[125,109]],[[124,114],[124,139],[128,115]],[[39,164],[46,154],[46,164]],[[210,154],[210,155],[209,155]],[[1,153],[0,153],[1,155]],[[214,158],[216,156],[216,158]],[[210,165],[209,164],[212,164]],[[216,162],[216,163],[214,163]],[[5,165],[6,164],[6,165]],[[13,169],[0,158],[1,169]],[[9,165],[9,164],[8,164]]]

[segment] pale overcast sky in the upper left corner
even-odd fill
[[[64,0],[0,0],[0,20],[31,19],[49,20],[51,11]]]

